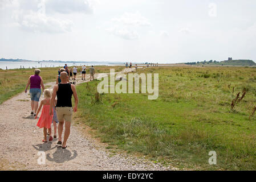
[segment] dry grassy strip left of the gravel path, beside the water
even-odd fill
[[[113,67],[121,71],[123,67]],[[40,76],[43,78],[44,83],[56,80],[59,68],[39,68],[41,70]],[[80,73],[81,67],[78,67]],[[95,67],[95,73],[109,72],[108,67]],[[0,104],[9,98],[21,93],[25,90],[27,80],[30,75],[34,75],[34,69],[0,69]]]

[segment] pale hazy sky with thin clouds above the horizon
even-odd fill
[[[255,0],[0,0],[0,58],[256,61]]]

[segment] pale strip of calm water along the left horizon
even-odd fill
[[[105,64],[105,63],[66,63],[68,66],[80,66],[80,65],[107,65],[111,66],[113,64]],[[37,62],[9,62],[9,61],[0,61],[1,69],[16,69],[16,68],[45,68],[45,67],[63,67],[65,63],[37,63]],[[124,65],[124,64],[119,64]]]

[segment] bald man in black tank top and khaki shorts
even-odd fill
[[[62,144],[62,148],[66,148],[67,139],[70,135],[70,126],[72,122],[72,113],[78,110],[78,94],[76,93],[75,85],[70,84],[66,72],[60,73],[59,84],[54,86],[51,97],[50,114],[52,114],[52,107],[54,106],[55,97],[57,96],[56,114],[59,120],[58,134],[59,140],[57,144]],[[72,95],[75,98],[75,106],[72,109]],[[65,123],[64,139],[62,142],[62,131]]]

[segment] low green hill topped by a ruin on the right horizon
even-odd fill
[[[214,67],[214,66],[232,66],[232,67],[252,67],[256,66],[256,63],[254,63],[253,60],[225,60],[225,61],[197,61],[192,63],[185,63],[185,64],[191,64],[191,65],[198,65],[198,66],[205,66],[205,67]]]

